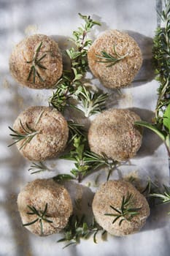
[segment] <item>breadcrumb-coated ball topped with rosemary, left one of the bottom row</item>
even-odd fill
[[[72,214],[69,192],[50,179],[26,184],[18,195],[18,210],[23,225],[38,236],[49,236],[66,227]]]

